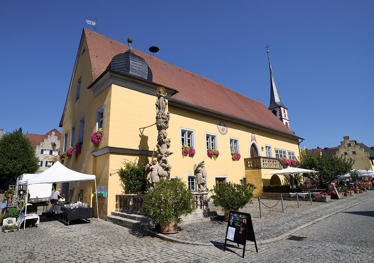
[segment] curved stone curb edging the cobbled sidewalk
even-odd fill
[[[274,242],[277,242],[277,241],[280,241],[282,239],[285,239],[286,237],[288,237],[289,235],[291,235],[292,233],[295,233],[297,232],[298,230],[301,230],[303,228],[306,228],[307,226],[310,226],[310,225],[313,225],[314,223],[317,223],[323,219],[326,219],[327,217],[330,217],[334,214],[337,214],[337,213],[340,213],[341,211],[344,211],[344,210],[347,210],[348,208],[351,208],[351,207],[354,207],[358,204],[361,204],[363,202],[366,202],[370,199],[373,199],[374,197],[371,197],[371,198],[368,198],[368,199],[365,199],[364,201],[361,201],[361,202],[358,202],[354,205],[351,205],[350,207],[346,207],[346,208],[343,208],[343,209],[340,209],[340,210],[337,210],[335,212],[332,212],[330,214],[327,214],[325,216],[322,216],[318,219],[315,219],[313,221],[310,221],[304,225],[301,225],[297,228],[294,228],[294,229],[291,229],[289,230],[288,232],[280,235],[280,236],[277,236],[275,238],[271,238],[271,239],[266,239],[266,240],[260,240],[260,241],[256,241],[258,245],[266,245],[266,244],[270,244],[270,243],[274,243]],[[156,237],[156,238],[160,238],[160,239],[163,239],[165,241],[169,241],[169,242],[174,242],[174,243],[178,243],[178,244],[187,244],[187,245],[200,245],[200,246],[215,246],[217,244],[217,242],[213,242],[213,243],[206,243],[206,242],[196,242],[196,241],[187,241],[187,240],[182,240],[182,239],[179,239],[179,238],[174,238],[172,237],[171,235],[163,235],[163,234],[160,234],[160,233],[157,233],[157,232],[154,232],[152,230],[148,230],[147,231],[147,234],[150,235],[150,236],[153,236],[153,237]]]

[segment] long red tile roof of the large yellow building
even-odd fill
[[[117,54],[124,53],[128,46],[86,28],[83,32],[91,58],[92,81],[95,81],[107,69],[111,59]],[[169,98],[170,101],[298,138],[263,103],[249,99],[221,84],[178,68],[147,53],[133,50],[136,55],[141,56],[147,62],[152,71],[154,83],[179,91]]]

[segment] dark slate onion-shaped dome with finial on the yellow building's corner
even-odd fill
[[[132,38],[129,37],[127,41],[129,47],[126,52],[115,55],[110,62],[108,69],[152,81],[152,71],[147,62],[145,62],[144,58],[135,55],[134,51],[132,51]]]

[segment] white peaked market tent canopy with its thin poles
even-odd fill
[[[33,185],[36,183],[67,183],[67,182],[77,182],[77,181],[88,181],[95,180],[95,192],[96,192],[96,176],[93,174],[79,173],[77,171],[70,170],[69,168],[62,165],[60,162],[56,162],[47,170],[43,171],[36,176],[29,179],[21,180],[18,182],[19,185],[27,185],[26,193],[28,192],[28,185]],[[27,195],[26,195],[27,203]],[[25,208],[25,214],[27,210],[27,205]],[[97,210],[97,220],[99,220],[99,211],[97,203],[96,194],[96,210]],[[25,230],[25,226],[24,226]]]

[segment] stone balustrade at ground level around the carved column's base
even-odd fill
[[[206,212],[208,209],[208,192],[193,193],[196,197],[196,212]],[[142,212],[145,195],[120,194],[116,195],[116,211],[133,213]]]

